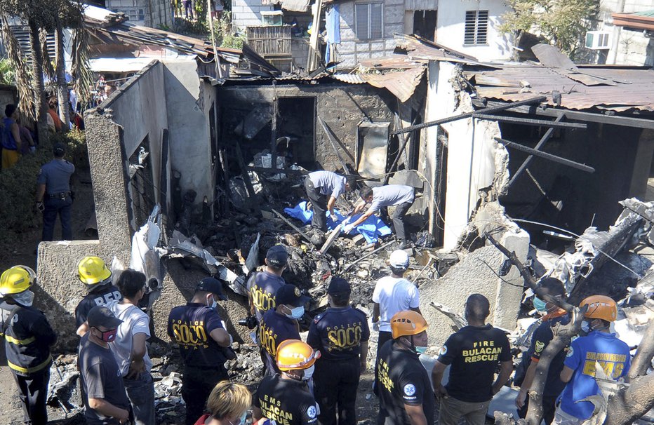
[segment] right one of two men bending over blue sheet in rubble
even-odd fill
[[[394,206],[395,211],[393,212],[392,220],[397,243],[396,245],[392,245],[392,249],[403,250],[411,247],[411,241],[407,239],[404,216],[409,208],[411,208],[411,205],[413,205],[413,187],[404,186],[403,184],[387,184],[371,189],[370,187],[363,186],[359,191],[359,196],[361,196],[361,201],[354,208],[353,215],[363,211],[366,205],[370,204],[371,206],[366,212],[363,212],[363,215],[359,219],[347,224],[343,228],[345,234],[349,234],[354,227],[368,220],[368,217],[380,209]]]

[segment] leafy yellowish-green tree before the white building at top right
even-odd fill
[[[513,11],[502,15],[500,32],[543,36],[573,59],[599,12],[599,0],[507,0],[507,4]]]

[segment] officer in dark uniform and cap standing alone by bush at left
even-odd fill
[[[73,200],[70,192],[70,176],[75,166],[64,159],[65,144],[55,143],[55,158],[41,167],[36,179],[36,208],[43,212],[43,235],[41,241],[52,241],[57,215],[61,220],[61,237],[72,241],[70,208]]]

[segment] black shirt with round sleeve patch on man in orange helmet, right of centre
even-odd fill
[[[378,424],[411,424],[404,405],[422,405],[427,424],[434,423],[434,391],[418,353],[399,349],[391,339],[379,354],[375,379],[379,386]]]

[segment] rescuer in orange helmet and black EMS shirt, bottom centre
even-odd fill
[[[253,397],[254,420],[265,417],[284,425],[318,424],[318,406],[307,381],[320,355],[299,339],[282,342],[276,354],[279,374],[264,377]]]

